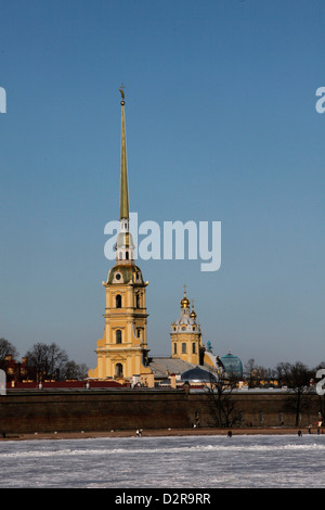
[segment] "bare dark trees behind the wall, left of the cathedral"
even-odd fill
[[[9,381],[65,381],[67,379],[84,380],[88,377],[88,367],[70,360],[67,353],[55,342],[34,344],[23,356],[22,361],[17,361],[18,356],[16,347],[1,337],[0,369],[4,370]]]

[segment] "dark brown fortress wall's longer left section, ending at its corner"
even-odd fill
[[[0,433],[109,431],[188,426],[184,391],[8,391]]]

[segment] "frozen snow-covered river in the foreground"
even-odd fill
[[[325,487],[325,435],[0,442],[0,487]]]

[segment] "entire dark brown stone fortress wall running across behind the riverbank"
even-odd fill
[[[295,425],[288,395],[233,394],[244,426]],[[317,422],[318,396],[301,415],[300,426]],[[184,388],[9,390],[0,396],[0,433],[78,432],[216,426],[208,397]]]

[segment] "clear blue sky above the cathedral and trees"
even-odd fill
[[[0,336],[94,368],[104,226],[118,219],[126,85],[130,208],[222,222],[222,264],[139,265],[152,355],[183,284],[204,342],[245,365],[324,352],[323,0],[0,3]]]

